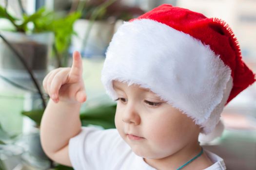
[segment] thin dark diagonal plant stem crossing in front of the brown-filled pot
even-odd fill
[[[2,38],[2,40],[7,44],[7,46],[18,56],[18,58],[20,59],[21,63],[23,64],[23,66],[26,68],[26,70],[28,71],[31,79],[33,80],[35,86],[37,87],[38,89],[38,92],[39,92],[39,95],[40,95],[40,98],[42,100],[42,104],[43,104],[43,108],[45,109],[46,108],[46,102],[43,98],[43,94],[42,94],[42,91],[39,87],[39,84],[37,82],[37,79],[35,78],[32,70],[28,67],[26,61],[24,60],[24,58],[20,55],[20,53],[18,51],[15,50],[15,48],[0,34],[0,37]]]

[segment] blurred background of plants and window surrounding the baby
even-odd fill
[[[105,51],[123,21],[163,3],[225,20],[256,72],[256,0],[0,0],[0,170],[69,169],[42,152],[39,124],[49,100],[42,80],[71,66],[74,50],[83,57],[88,96],[82,124],[114,128],[115,103],[100,82]],[[256,170],[256,84],[231,101],[221,119],[223,135],[203,147],[228,170]]]

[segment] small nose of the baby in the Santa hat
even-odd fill
[[[135,125],[140,124],[140,116],[134,105],[127,104],[122,114],[122,121],[125,123],[134,123]]]

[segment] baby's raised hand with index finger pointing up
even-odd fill
[[[56,68],[43,79],[43,87],[54,102],[85,102],[82,80],[82,60],[78,51],[73,53],[71,68]]]

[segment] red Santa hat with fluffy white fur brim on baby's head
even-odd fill
[[[209,134],[223,107],[255,82],[232,30],[222,20],[163,4],[124,22],[107,49],[101,81],[149,88]]]

